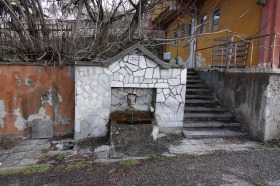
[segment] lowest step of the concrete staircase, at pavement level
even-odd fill
[[[247,133],[237,132],[228,129],[220,130],[183,130],[186,138],[226,138],[226,137],[245,137]]]

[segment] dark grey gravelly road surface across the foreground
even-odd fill
[[[1,185],[280,185],[280,149],[90,164],[32,175],[0,176]]]

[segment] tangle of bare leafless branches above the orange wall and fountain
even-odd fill
[[[0,47],[21,61],[45,64],[59,61],[63,65],[75,60],[110,57],[130,42],[143,38],[140,24],[143,16],[162,1],[52,0],[51,6],[44,2],[0,0],[0,16],[16,33],[0,29],[0,34],[13,43],[10,46],[0,43]],[[75,20],[71,34],[57,28],[59,37],[55,39],[48,21],[67,19]],[[79,32],[86,19],[93,25],[93,31],[87,45],[81,47],[79,38],[83,36]]]

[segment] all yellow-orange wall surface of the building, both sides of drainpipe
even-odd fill
[[[199,33],[199,27],[196,30],[196,56],[204,58],[206,65],[211,64],[211,47],[215,38],[230,35],[234,32],[234,41],[240,38],[257,37],[261,30],[262,6],[257,5],[256,0],[200,0],[198,1],[198,19],[200,15],[207,15],[206,34]],[[216,30],[211,30],[211,16],[215,8],[220,7],[220,25]],[[182,13],[183,14],[183,13]],[[190,22],[190,16],[181,15],[172,23],[167,25],[166,36],[173,38],[173,31],[178,29],[179,25]],[[198,25],[200,23],[198,22]],[[229,30],[227,32],[225,30]],[[218,32],[218,33],[216,33]],[[258,39],[254,40],[254,50],[252,55],[252,66],[258,65]],[[251,60],[251,44],[249,46],[246,65],[249,66]],[[186,61],[190,55],[188,40],[167,44],[165,52],[171,52],[171,57],[180,56]]]

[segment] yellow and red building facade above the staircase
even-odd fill
[[[167,1],[152,19],[188,67],[279,67],[280,2]]]

